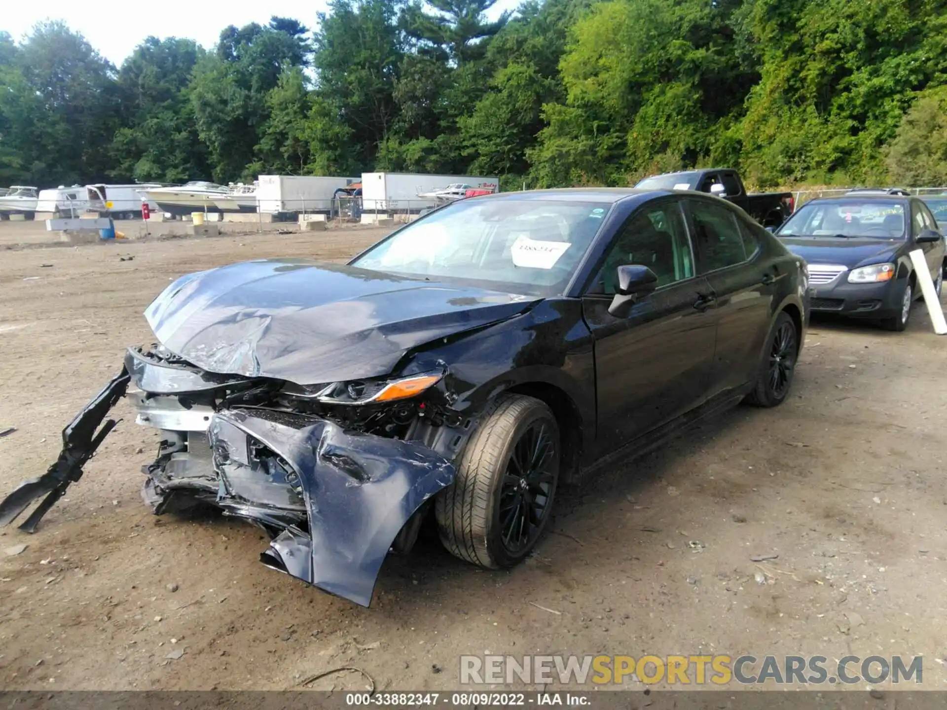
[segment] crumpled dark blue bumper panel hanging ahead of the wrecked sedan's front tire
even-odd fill
[[[420,444],[347,432],[325,420],[231,410],[212,417],[207,435],[222,487],[241,477],[247,449],[259,444],[295,473],[291,484],[302,493],[309,529],[291,525],[260,559],[362,606],[371,602],[402,526],[454,482],[454,466]]]

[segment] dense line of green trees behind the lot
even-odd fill
[[[331,0],[116,67],[0,32],[0,184],[364,170],[947,183],[947,0]]]

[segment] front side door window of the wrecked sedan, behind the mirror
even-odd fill
[[[676,202],[651,204],[621,228],[593,282],[590,293],[614,295],[617,268],[647,266],[657,276],[657,287],[694,275],[690,242]]]

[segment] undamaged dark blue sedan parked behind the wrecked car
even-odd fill
[[[813,312],[871,318],[903,330],[920,296],[908,254],[921,249],[938,294],[944,239],[916,197],[846,195],[803,204],[776,231],[808,262]]]

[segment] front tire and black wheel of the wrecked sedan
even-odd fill
[[[549,520],[560,458],[559,426],[545,402],[496,399],[460,454],[454,483],[435,500],[444,547],[488,569],[527,557]]]

